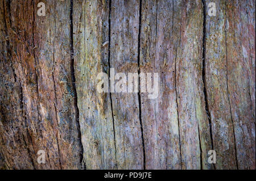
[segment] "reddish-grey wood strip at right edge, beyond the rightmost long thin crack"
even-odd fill
[[[255,58],[251,59],[255,57],[255,21],[247,23],[249,10],[245,9],[253,5],[250,13],[255,16],[255,1],[228,1],[225,8],[226,81],[238,169],[255,169],[255,98],[251,98],[255,96]],[[249,34],[254,35],[252,46]]]

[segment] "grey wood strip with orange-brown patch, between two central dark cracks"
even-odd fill
[[[115,73],[138,72],[139,1],[112,1],[110,68]],[[118,169],[143,169],[143,138],[136,93],[113,93]]]

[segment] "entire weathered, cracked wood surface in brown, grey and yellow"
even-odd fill
[[[255,1],[39,2],[1,0],[1,169],[255,169]]]

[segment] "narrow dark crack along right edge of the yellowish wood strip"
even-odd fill
[[[109,64],[109,85],[110,85],[110,43],[111,43],[111,0],[109,0],[109,48],[108,48],[108,64]],[[111,91],[109,91],[109,97],[110,97],[110,107],[111,107],[111,113],[112,113],[112,123],[113,123],[113,132],[114,132],[114,145],[115,145],[115,123],[114,123],[114,113],[113,113],[113,101],[112,101],[112,94]],[[117,165],[117,147],[115,145],[115,167],[118,169]]]

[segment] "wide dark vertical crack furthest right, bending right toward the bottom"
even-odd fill
[[[209,112],[209,103],[208,103],[208,95],[207,95],[207,89],[206,89],[206,78],[205,78],[205,54],[206,54],[206,41],[205,41],[205,37],[206,37],[206,10],[205,10],[205,1],[202,0],[202,5],[203,5],[203,70],[202,70],[202,78],[203,78],[203,86],[204,86],[204,101],[205,101],[205,111],[207,113],[207,117],[208,117],[208,121],[209,121],[209,129],[210,129],[210,144],[212,145],[212,149],[214,149],[213,147],[213,133],[212,133],[212,118],[210,117],[210,112]],[[213,168],[215,170],[215,165],[213,164]]]

